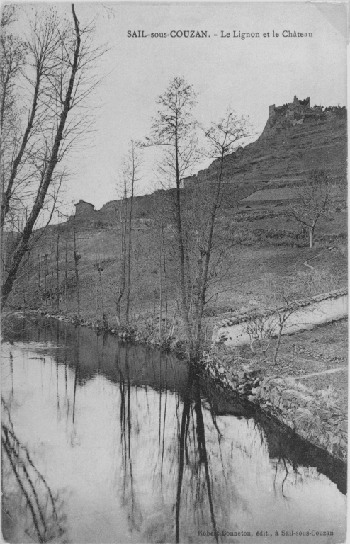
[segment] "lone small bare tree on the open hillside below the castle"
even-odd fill
[[[324,170],[312,170],[307,181],[297,190],[298,201],[290,205],[290,214],[300,225],[309,229],[310,248],[320,217],[328,219],[332,204],[332,184]]]

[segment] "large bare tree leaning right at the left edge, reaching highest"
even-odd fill
[[[40,214],[46,210],[47,222],[52,217],[57,181],[62,181],[64,174],[64,170],[55,173],[55,169],[77,138],[89,130],[89,120],[86,112],[81,115],[81,106],[96,86],[91,69],[103,52],[92,44],[94,26],[81,25],[74,4],[70,21],[58,16],[52,8],[38,10],[40,13],[36,11],[29,23],[30,35],[23,42],[26,69],[13,68],[9,79],[12,87],[2,84],[1,89],[5,104],[11,101],[13,86],[20,84],[16,81],[19,75],[28,89],[27,101],[24,96],[27,109],[21,116],[25,123],[12,142],[11,161],[3,169],[6,176],[2,179],[1,227],[13,231],[13,217],[22,217],[3,273],[3,306]],[[13,42],[10,45],[12,49],[16,47]],[[10,45],[1,46],[8,50]],[[18,64],[21,64],[21,46],[18,47]],[[8,62],[6,59],[4,62]],[[2,110],[4,125],[6,111],[14,110],[15,106]]]

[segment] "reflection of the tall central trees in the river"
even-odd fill
[[[162,357],[162,359],[161,359]],[[161,377],[160,368],[163,367]],[[140,473],[134,475],[133,466],[137,467],[137,387],[130,382],[129,347],[125,347],[125,357],[120,360],[119,353],[115,358],[115,371],[118,375],[119,388],[119,424],[120,424],[120,457],[122,464],[122,482],[120,494],[122,504],[127,511],[130,531],[142,531],[142,541],[179,543],[186,536],[198,533],[198,527],[207,528],[208,521],[211,524],[210,531],[215,533],[215,541],[218,542],[218,522],[215,509],[220,514],[220,526],[226,526],[232,506],[237,501],[235,483],[227,485],[225,471],[230,471],[224,466],[220,451],[220,432],[215,421],[215,414],[210,404],[211,417],[213,419],[215,433],[210,433],[210,450],[220,451],[220,457],[215,458],[215,477],[211,466],[210,452],[208,451],[205,433],[205,418],[203,417],[203,399],[201,399],[200,378],[196,370],[188,367],[186,387],[176,393],[176,411],[167,412],[168,396],[174,392],[168,390],[167,376],[169,370],[174,370],[171,358],[159,354],[159,361],[154,361],[154,369],[159,365],[159,407],[158,411],[158,436],[157,455],[152,455],[152,466],[147,464],[142,474],[142,479],[147,481],[152,478],[152,495],[149,497],[149,506],[152,509],[147,512],[145,504],[140,497],[137,499],[137,489],[142,487],[142,482],[137,479]],[[132,395],[132,390],[134,395]],[[147,398],[147,423],[156,416],[154,404],[149,410],[147,388],[142,390]],[[157,395],[157,394],[156,394]],[[135,398],[136,397],[136,398]],[[157,397],[155,397],[157,398]],[[145,417],[145,412],[144,412]],[[216,438],[215,438],[216,437]],[[154,440],[154,437],[152,437]],[[149,437],[149,440],[152,440]],[[213,444],[213,440],[216,441]],[[135,446],[133,450],[133,445]],[[149,446],[149,445],[148,445]],[[147,445],[145,448],[145,455]],[[153,452],[156,444],[152,444]],[[136,481],[135,481],[136,477]],[[143,504],[143,508],[142,508]],[[243,504],[243,501],[242,501]],[[228,523],[228,521],[227,521]],[[186,540],[186,538],[185,538]],[[196,538],[195,538],[196,540]]]

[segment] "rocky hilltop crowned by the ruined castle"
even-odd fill
[[[291,103],[269,106],[269,119],[256,142],[227,157],[225,181],[248,192],[249,186],[252,191],[296,186],[316,168],[345,181],[346,149],[345,106],[311,107],[310,98],[295,96]],[[215,181],[217,164],[185,178],[184,186]]]

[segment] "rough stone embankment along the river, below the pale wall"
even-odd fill
[[[347,459],[347,419],[329,390],[312,391],[281,376],[264,377],[257,367],[222,362],[203,352],[205,371],[222,387],[237,392],[306,441]]]

